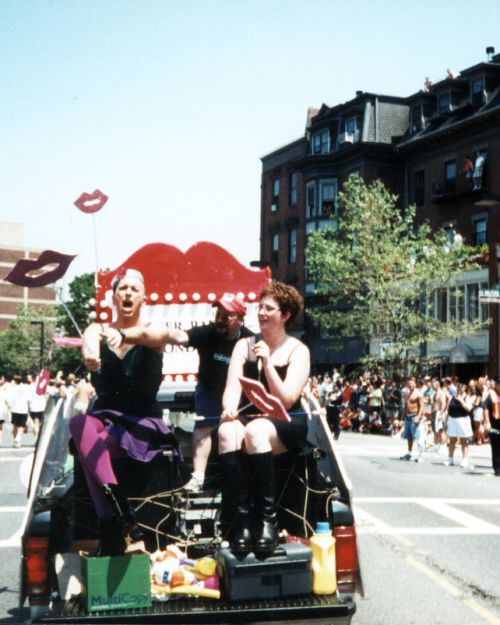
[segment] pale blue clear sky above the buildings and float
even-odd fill
[[[260,159],[308,107],[411,95],[500,52],[498,24],[498,0],[1,0],[0,221],[78,254],[68,280],[157,241],[248,265]]]

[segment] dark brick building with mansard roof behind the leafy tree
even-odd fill
[[[307,234],[332,225],[338,189],[350,174],[381,179],[402,206],[417,205],[419,220],[488,246],[489,261],[460,278],[458,297],[451,290],[436,294],[432,314],[457,321],[491,317],[491,326],[458,343],[438,341],[427,355],[441,361],[442,371],[463,377],[498,375],[498,306],[481,304],[479,290],[500,281],[499,122],[500,55],[406,98],[357,92],[344,104],[310,109],[304,137],[262,158],[261,260],[297,286],[306,308],[316,305],[304,272]],[[465,159],[474,165],[478,153],[485,165],[480,188],[473,189]],[[334,349],[307,317],[298,332],[316,370],[355,363],[370,349],[355,337]]]

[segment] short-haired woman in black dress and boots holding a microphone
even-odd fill
[[[302,306],[294,287],[278,281],[264,287],[258,307],[262,338],[240,339],[231,356],[218,439],[224,507],[232,516],[229,538],[235,553],[253,549],[267,555],[277,547],[273,456],[287,451],[298,454],[307,447],[307,415],[300,400],[309,376],[310,354],[287,333]],[[254,406],[242,409],[241,376],[260,379],[281,400],[291,421],[262,415],[252,418],[257,412]],[[243,404],[248,402],[243,400]]]

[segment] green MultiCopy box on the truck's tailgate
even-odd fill
[[[82,555],[81,570],[87,612],[151,606],[148,554],[101,558]]]

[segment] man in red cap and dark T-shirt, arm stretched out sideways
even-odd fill
[[[205,470],[212,447],[211,433],[222,412],[222,394],[226,386],[227,370],[233,348],[238,339],[252,336],[243,325],[245,303],[232,293],[225,293],[215,304],[215,321],[189,330],[167,328],[158,324],[131,328],[122,333],[123,342],[141,343],[157,347],[180,345],[198,351],[198,383],[195,390],[196,421],[193,432],[193,474],[185,490],[198,492],[203,487]],[[120,337],[121,340],[121,337]]]

